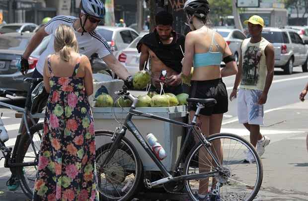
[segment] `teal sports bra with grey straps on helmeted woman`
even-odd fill
[[[220,50],[218,44],[214,39],[215,32],[213,31],[212,42],[210,50],[206,53],[195,53],[194,55],[194,67],[207,67],[207,66],[220,66],[223,53],[221,52],[212,52],[212,46],[215,45]]]

